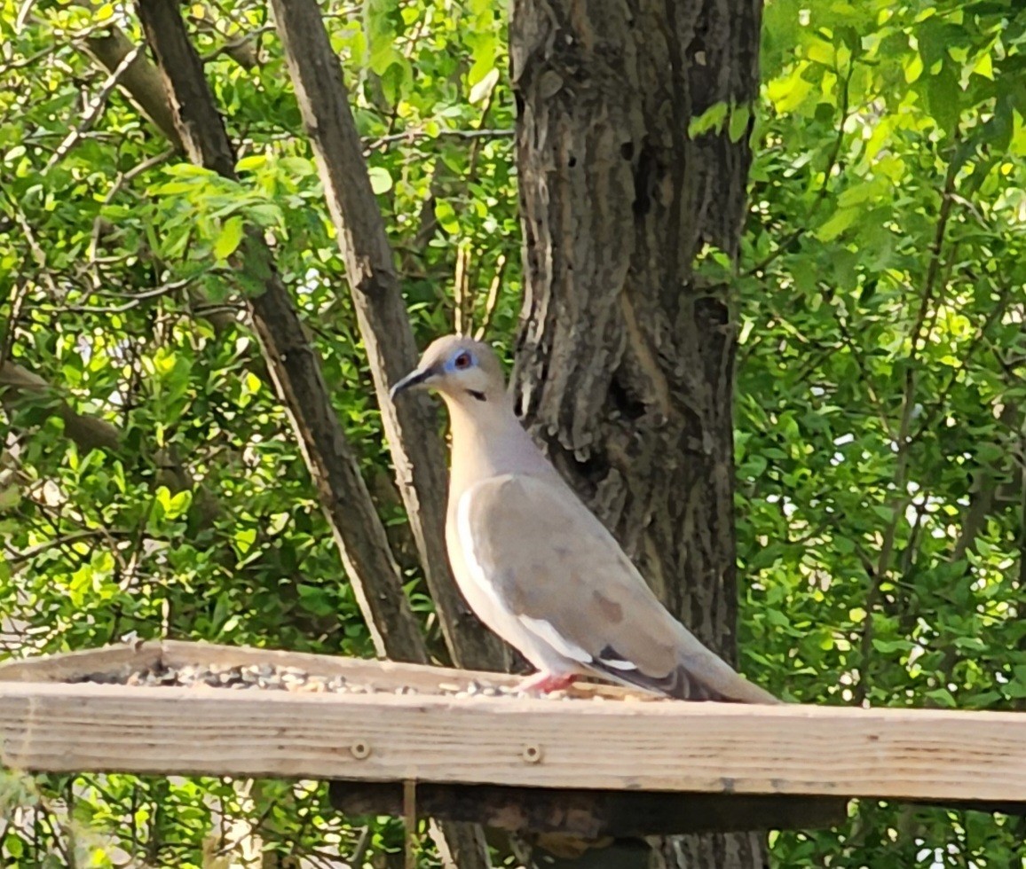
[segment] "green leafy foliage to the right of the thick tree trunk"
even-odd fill
[[[1024,41],[1013,3],[766,7],[739,542],[746,654],[795,699],[984,709],[1026,693]],[[1018,866],[1023,833],[863,802],[774,854]]]

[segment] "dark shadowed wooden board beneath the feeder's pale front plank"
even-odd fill
[[[512,833],[605,836],[813,830],[847,818],[847,800],[833,796],[743,795],[512,788],[499,785],[417,785],[417,812]],[[403,812],[399,782],[331,782],[331,804],[346,815]]]

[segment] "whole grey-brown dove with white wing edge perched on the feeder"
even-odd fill
[[[430,387],[451,417],[445,526],[467,603],[539,672],[581,674],[685,700],[778,703],[671,616],[620,544],[520,425],[486,344],[439,338],[392,388]]]

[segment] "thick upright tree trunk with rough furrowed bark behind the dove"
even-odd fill
[[[671,612],[732,661],[737,324],[728,286],[696,262],[737,253],[760,14],[760,0],[514,0],[510,27],[518,409]],[[689,136],[719,102],[738,108]],[[763,865],[757,835],[658,851]]]

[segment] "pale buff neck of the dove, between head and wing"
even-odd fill
[[[558,478],[516,418],[509,396],[486,402],[471,396],[444,398],[452,437],[449,503],[455,504],[471,486],[504,473]]]

